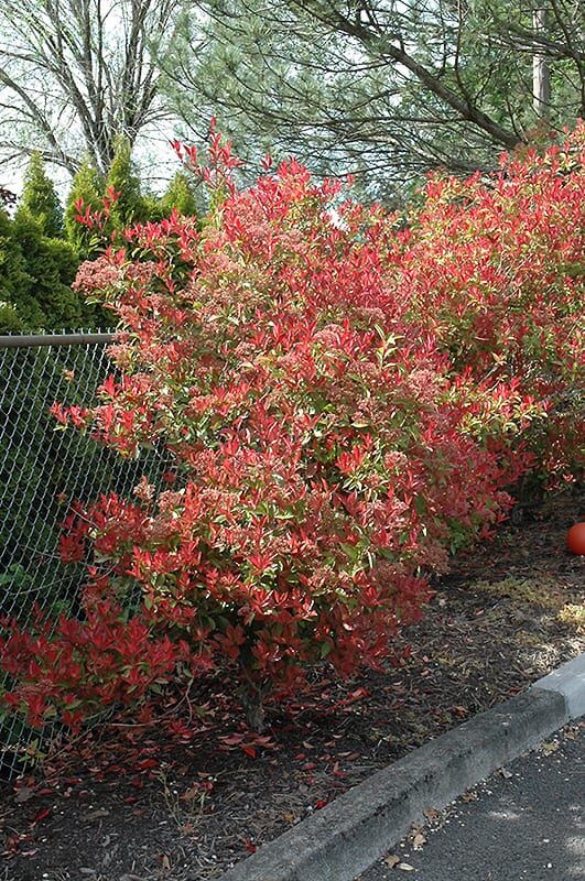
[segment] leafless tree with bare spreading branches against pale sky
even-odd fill
[[[41,152],[74,174],[106,172],[118,135],[169,116],[153,44],[182,0],[1,0],[0,156]]]

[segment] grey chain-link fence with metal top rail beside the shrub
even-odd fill
[[[75,428],[57,429],[55,401],[89,405],[116,372],[109,334],[0,337],[0,619],[25,626],[36,607],[47,618],[67,613],[84,578],[83,565],[64,565],[61,524],[75,500],[115,491],[130,496],[142,475],[156,485],[158,452],[124,459]],[[10,686],[0,670],[0,688]],[[55,736],[40,738],[22,719],[0,713],[0,773],[11,776]]]

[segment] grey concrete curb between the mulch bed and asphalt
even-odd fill
[[[378,771],[220,881],[354,881],[409,831],[585,713],[585,654]]]

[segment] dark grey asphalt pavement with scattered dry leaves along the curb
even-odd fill
[[[427,824],[359,881],[585,881],[584,747],[582,717],[427,811]]]

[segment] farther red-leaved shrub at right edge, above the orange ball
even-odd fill
[[[583,468],[585,123],[542,151],[503,156],[500,172],[432,178],[384,262],[432,333],[452,376],[518,382],[548,418],[524,435],[540,467]]]

